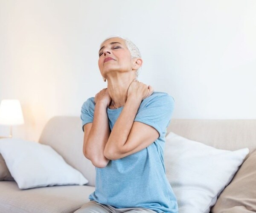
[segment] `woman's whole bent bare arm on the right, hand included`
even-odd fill
[[[141,101],[153,92],[151,87],[138,83],[133,83],[135,86],[131,85],[130,91],[128,89],[131,95],[128,95],[125,106],[108,138],[104,150],[104,155],[108,159],[116,160],[136,153],[148,147],[159,137],[159,133],[153,127],[141,122],[134,122]]]

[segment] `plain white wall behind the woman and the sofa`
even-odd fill
[[[37,141],[52,116],[80,116],[107,85],[98,50],[114,34],[139,47],[140,81],[175,98],[173,118],[256,119],[255,11],[253,0],[0,0],[0,100],[19,99],[25,119],[13,135]]]

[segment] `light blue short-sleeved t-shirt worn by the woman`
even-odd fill
[[[110,160],[104,168],[96,167],[95,192],[90,194],[90,200],[116,208],[144,207],[158,213],[178,212],[163,160],[166,127],[170,124],[174,103],[174,98],[165,92],[153,92],[141,102],[134,121],[154,127],[160,137],[137,153]],[[94,107],[94,97],[82,105],[82,127],[93,122]],[[122,109],[106,109],[110,130]]]

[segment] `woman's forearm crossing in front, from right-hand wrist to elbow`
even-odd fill
[[[106,157],[113,156],[115,153],[125,153],[128,147],[125,147],[125,142],[128,139],[134,119],[140,107],[141,100],[131,96],[128,97],[121,114],[113,126],[105,146],[104,155]]]

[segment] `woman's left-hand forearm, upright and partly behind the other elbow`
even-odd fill
[[[108,164],[109,159],[104,156],[103,152],[109,135],[110,130],[106,107],[101,102],[96,103],[92,127],[84,144],[85,156],[96,167],[105,167]]]

